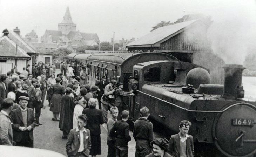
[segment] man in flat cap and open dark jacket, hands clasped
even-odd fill
[[[20,107],[11,112],[13,141],[16,146],[34,147],[33,129],[36,126],[34,110],[27,108],[29,97],[20,96]]]

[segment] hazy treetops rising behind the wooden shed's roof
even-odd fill
[[[168,21],[168,22],[161,21],[160,23],[157,23],[156,26],[152,27],[152,30],[150,30],[150,32],[159,28],[159,27],[169,26],[169,25],[173,25],[173,24],[176,24],[176,23],[195,20],[195,19],[200,19],[200,20],[203,20],[205,22],[211,22],[211,17],[210,16],[205,16],[203,14],[188,14],[188,15],[184,15],[182,18],[177,19],[173,23],[171,23],[170,21]]]

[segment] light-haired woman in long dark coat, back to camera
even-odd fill
[[[89,108],[83,109],[83,114],[88,117],[85,128],[90,130],[92,148],[90,155],[95,157],[101,154],[101,139],[100,139],[100,125],[103,124],[102,112],[96,109],[98,103],[97,99],[90,98],[88,101]]]

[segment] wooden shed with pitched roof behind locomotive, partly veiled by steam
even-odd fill
[[[129,51],[169,53],[177,59],[198,64],[210,70],[211,83],[223,84],[224,61],[211,53],[207,40],[209,21],[191,20],[160,27],[138,40],[128,43]]]

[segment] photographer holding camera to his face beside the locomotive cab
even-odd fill
[[[116,80],[111,80],[111,82],[105,86],[104,88],[104,95],[101,97],[101,103],[102,103],[102,116],[104,123],[108,122],[108,106],[112,107],[115,100],[115,85]]]

